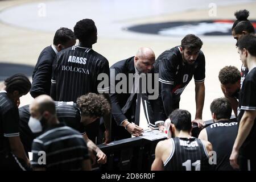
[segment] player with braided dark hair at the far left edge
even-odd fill
[[[0,169],[26,170],[30,162],[19,137],[19,98],[26,95],[31,83],[23,74],[7,78],[0,92]]]

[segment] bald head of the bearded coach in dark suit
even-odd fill
[[[134,57],[134,65],[139,73],[149,73],[155,63],[155,53],[151,48],[141,47]]]

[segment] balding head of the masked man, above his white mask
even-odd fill
[[[30,105],[30,113],[32,117],[35,118],[43,116],[44,113],[47,113],[47,115],[55,115],[54,101],[47,95],[38,96]]]

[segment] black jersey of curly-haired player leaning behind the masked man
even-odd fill
[[[79,107],[73,102],[57,102],[55,101],[57,118],[65,125],[72,127],[79,131],[82,135],[85,134],[85,126],[82,125],[81,113]],[[19,107],[19,126],[20,126],[20,139],[24,144],[25,151],[31,151],[32,141],[39,136],[34,134],[28,127],[30,119],[29,105]]]

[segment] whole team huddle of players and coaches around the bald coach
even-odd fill
[[[80,20],[73,31],[59,28],[39,55],[32,84],[18,73],[1,85],[0,169],[90,170],[96,160],[108,160],[97,144],[167,130],[168,139],[155,148],[152,170],[256,170],[256,36],[249,11],[235,15],[232,35],[241,71],[231,65],[220,70],[225,97],[212,101],[214,123],[207,127],[202,120],[207,62],[198,36],[186,35],[157,59],[151,48],[141,47],[109,67],[92,49],[97,43],[92,19]],[[193,119],[179,104],[192,78]],[[35,99],[19,107],[28,92]],[[232,110],[236,121],[230,120]],[[201,129],[198,138],[191,135],[192,123]]]

